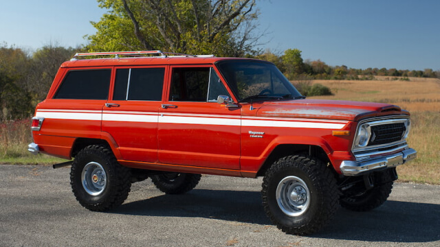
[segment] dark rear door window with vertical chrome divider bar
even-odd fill
[[[113,100],[161,101],[165,68],[117,69]]]

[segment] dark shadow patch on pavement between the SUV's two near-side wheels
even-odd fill
[[[193,189],[183,195],[162,195],[122,204],[111,213],[127,215],[206,217],[252,224],[272,224],[258,191]]]

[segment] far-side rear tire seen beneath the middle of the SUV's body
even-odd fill
[[[194,189],[199,183],[200,174],[164,172],[151,176],[154,185],[167,194],[181,194]]]

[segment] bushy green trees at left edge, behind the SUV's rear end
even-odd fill
[[[23,119],[34,113],[50,89],[60,64],[75,49],[47,45],[34,54],[16,47],[0,47],[0,120]]]

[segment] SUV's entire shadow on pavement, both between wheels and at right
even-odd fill
[[[272,225],[259,191],[194,189],[184,195],[161,195],[122,204],[111,213],[165,217],[205,217]],[[340,209],[328,226],[308,237],[366,242],[440,240],[440,206],[387,201],[369,212]]]

